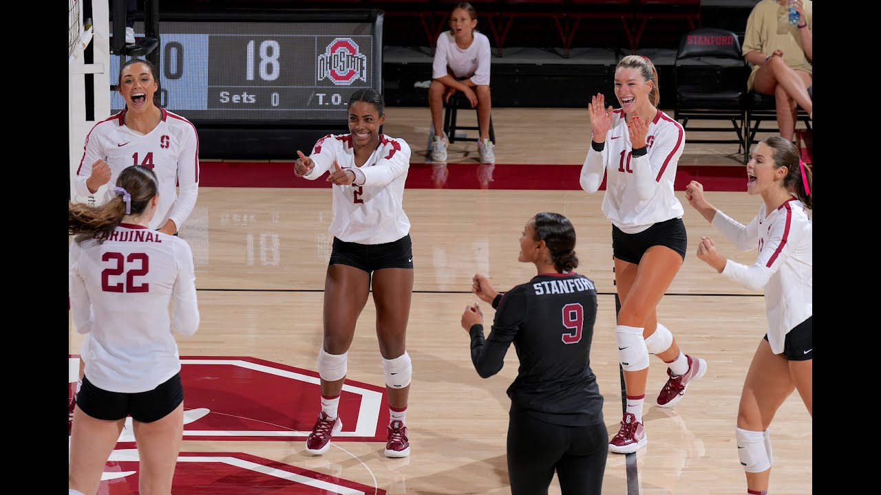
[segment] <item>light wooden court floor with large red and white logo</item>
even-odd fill
[[[389,108],[388,115],[385,132],[411,144],[411,162],[418,166],[425,161],[427,108]],[[493,121],[497,166],[580,165],[587,151],[584,109],[500,108]],[[686,144],[679,163],[737,166],[742,155],[735,151],[737,144]],[[222,157],[203,158],[210,159]],[[450,162],[476,159],[475,143],[451,145]],[[743,184],[745,189],[745,173]],[[510,350],[499,374],[479,378],[459,318],[478,300],[470,294],[475,273],[491,277],[501,291],[534,275],[531,265],[516,257],[522,226],[538,211],[557,211],[573,221],[581,260],[577,271],[593,279],[600,293],[591,367],[605,398],[610,436],[618,431],[615,287],[611,225],[600,211],[603,193],[408,188],[404,209],[411,219],[416,265],[407,343],[413,361],[407,414],[411,456],[382,454],[388,410],[372,299],[349,351],[344,432],[327,454],[307,454],[305,436],[320,407],[315,361],[322,342],[330,191],[291,185],[202,187],[181,230],[196,258],[202,324],[195,336],[178,337],[188,415],[175,495],[509,493],[505,389],[516,375],[516,355]],[[606,495],[745,492],[734,427],[746,370],[765,333],[764,299],[717,275],[694,252],[701,235],[713,237],[722,255],[738,262],[751,262],[755,252],[735,251],[688,206],[681,191],[677,196],[685,207],[688,255],[658,316],[683,351],[707,359],[708,370],[676,407],[661,409],[653,403],[666,380],[665,366],[652,358],[644,413],[648,447],[637,454],[609,454]],[[707,197],[744,223],[759,209],[759,200],[744,192],[713,191]],[[488,324],[492,308],[481,307]],[[75,381],[82,336],[72,325],[69,331],[70,380]],[[812,421],[797,393],[774,417],[771,435],[771,491],[811,493]],[[127,429],[107,462],[101,493],[137,491],[132,440]],[[556,480],[550,493],[559,494]]]

